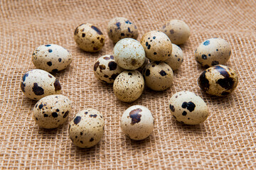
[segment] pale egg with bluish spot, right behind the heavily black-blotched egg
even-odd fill
[[[199,45],[195,52],[196,62],[203,67],[225,64],[230,59],[230,44],[222,38],[210,38]]]

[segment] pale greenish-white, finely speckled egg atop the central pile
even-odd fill
[[[139,41],[124,38],[114,45],[114,61],[124,69],[138,69],[145,60],[145,51]]]

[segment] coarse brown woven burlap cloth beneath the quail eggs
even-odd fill
[[[0,169],[253,169],[256,167],[256,1],[0,1]],[[162,92],[145,89],[133,103],[115,98],[112,85],[95,79],[92,66],[112,54],[107,37],[111,18],[124,16],[137,24],[139,38],[177,18],[188,23],[191,37],[181,45],[184,62],[174,85]],[[73,32],[80,23],[93,23],[106,35],[100,52],[78,48]],[[228,66],[238,73],[237,89],[225,98],[204,94],[197,85],[203,69],[193,54],[199,43],[219,37],[230,42]],[[73,62],[54,74],[75,113],[98,109],[105,117],[101,142],[90,149],[75,147],[68,122],[57,130],[41,130],[32,118],[36,101],[23,96],[21,76],[34,69],[31,54],[39,45],[55,43],[73,55]],[[210,116],[201,125],[177,123],[168,109],[177,91],[201,96]],[[148,107],[155,118],[146,140],[129,140],[119,119],[134,104]]]

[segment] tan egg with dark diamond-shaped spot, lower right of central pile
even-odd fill
[[[145,84],[154,91],[168,89],[174,80],[174,72],[164,62],[151,62],[143,69]]]

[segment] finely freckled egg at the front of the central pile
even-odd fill
[[[136,101],[144,90],[144,79],[137,70],[124,71],[114,80],[115,96],[124,102]]]

